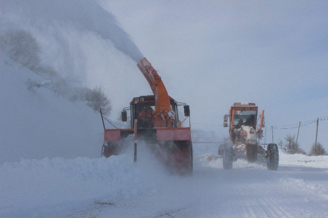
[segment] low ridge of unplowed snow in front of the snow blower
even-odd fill
[[[59,208],[88,206],[94,200],[115,203],[150,193],[167,180],[164,167],[139,148],[110,158],[44,158],[4,163],[0,167],[0,217],[55,217]],[[58,206],[60,205],[60,206]],[[34,215],[33,215],[34,216]]]

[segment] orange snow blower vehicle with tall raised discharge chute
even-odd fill
[[[122,121],[127,121],[130,110],[130,129],[105,129],[102,154],[105,157],[117,155],[124,148],[126,136],[134,135],[134,161],[137,161],[137,142],[145,142],[166,166],[178,173],[191,174],[193,168],[192,143],[190,133],[190,110],[185,103],[178,103],[167,94],[161,77],[146,58],[137,64],[148,81],[153,95],[132,99],[130,107],[121,112]],[[182,127],[178,108],[184,106],[185,121],[189,127]],[[103,116],[102,116],[103,118]]]

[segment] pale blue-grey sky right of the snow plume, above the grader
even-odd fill
[[[327,1],[98,2],[159,71],[169,94],[190,104],[194,123],[221,125],[238,101],[265,109],[267,128],[328,116]],[[326,149],[327,124],[320,122],[318,133]],[[286,133],[297,129],[274,130],[275,142]],[[308,152],[314,140],[315,124],[301,128],[301,148]]]

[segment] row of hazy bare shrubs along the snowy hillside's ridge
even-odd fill
[[[33,87],[45,87],[58,95],[68,98],[71,102],[86,102],[94,111],[98,112],[102,109],[105,115],[109,115],[111,102],[100,87],[94,89],[78,87],[73,84],[72,79],[59,76],[52,66],[41,64],[40,46],[31,33],[23,30],[10,30],[0,34],[0,50],[14,62],[43,78],[42,82],[27,79],[28,90],[34,91]],[[5,62],[8,62],[8,60],[5,60]]]

